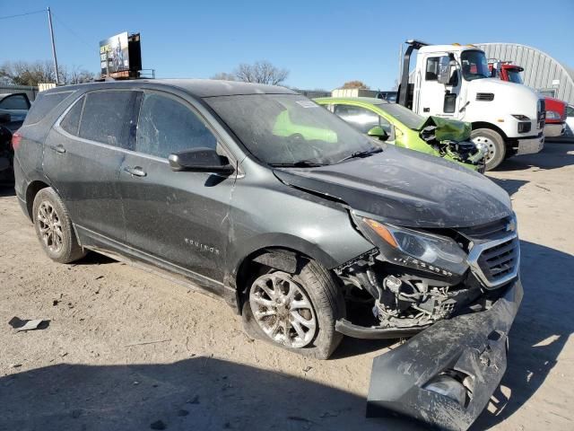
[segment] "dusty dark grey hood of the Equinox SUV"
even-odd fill
[[[512,213],[508,193],[482,174],[395,145],[362,159],[274,174],[288,185],[406,227],[473,226]]]

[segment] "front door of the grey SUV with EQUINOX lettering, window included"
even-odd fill
[[[221,283],[235,174],[172,171],[170,154],[221,145],[187,101],[144,92],[140,106],[135,152],[120,169],[127,245],[143,259]]]

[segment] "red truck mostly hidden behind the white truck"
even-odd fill
[[[488,67],[493,78],[510,83],[524,84],[521,72],[524,67],[513,65],[511,61],[489,59]],[[553,97],[544,96],[546,118],[544,120],[544,136],[558,137],[566,130],[566,102]]]

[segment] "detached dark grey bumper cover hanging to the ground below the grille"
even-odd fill
[[[508,334],[522,301],[519,280],[490,310],[439,321],[373,361],[367,417],[404,415],[433,427],[465,430],[488,404],[506,371]],[[424,389],[438,374],[470,376],[463,406]]]

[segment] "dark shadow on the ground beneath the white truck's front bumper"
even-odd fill
[[[536,154],[524,154],[510,157],[495,170],[497,171],[523,171],[550,170],[574,164],[574,144],[549,142],[544,149]]]

